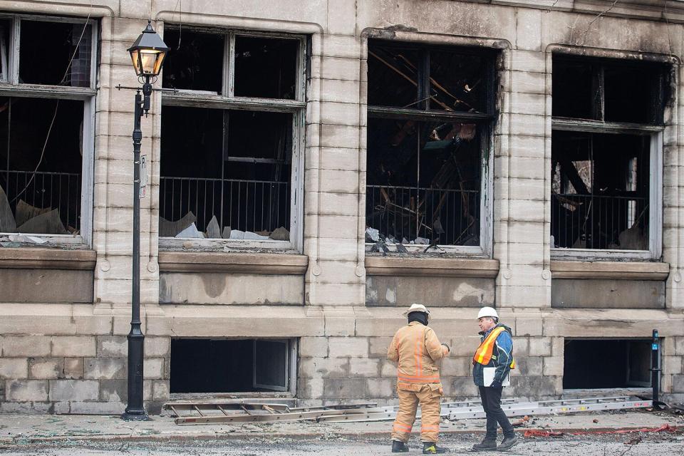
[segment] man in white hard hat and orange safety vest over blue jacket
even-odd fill
[[[491,307],[482,307],[477,321],[482,330],[482,343],[472,357],[472,380],[480,388],[482,408],[487,415],[487,433],[472,449],[506,451],[518,443],[513,426],[501,410],[503,386],[509,383],[509,373],[515,368],[511,328],[499,323],[499,314]],[[504,440],[498,447],[497,423],[504,432]]]

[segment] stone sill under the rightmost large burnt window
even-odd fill
[[[665,280],[669,263],[647,261],[551,261],[553,279]]]

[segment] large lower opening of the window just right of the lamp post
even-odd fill
[[[291,131],[289,113],[165,107],[160,236],[289,240]]]

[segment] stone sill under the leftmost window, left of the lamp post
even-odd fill
[[[68,269],[93,271],[97,253],[94,250],[40,248],[0,249],[0,269]]]

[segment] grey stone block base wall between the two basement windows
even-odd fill
[[[376,324],[382,324],[380,320]],[[403,324],[398,322],[396,328]],[[441,324],[441,323],[440,323]],[[476,398],[472,383],[472,353],[480,343],[476,336],[450,338],[452,354],[441,362],[440,375],[445,400]],[[395,403],[396,366],[386,359],[392,338],[387,336],[349,336],[301,338],[297,394],[309,404],[333,405],[351,400],[370,399]],[[515,337],[514,356],[517,369],[512,372],[512,386],[507,395],[518,398],[556,397],[561,393],[557,378],[563,371],[562,353],[552,353],[561,338]],[[532,348],[534,346],[534,348]],[[552,356],[555,355],[555,356]]]

